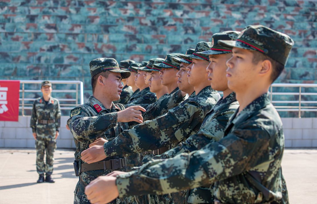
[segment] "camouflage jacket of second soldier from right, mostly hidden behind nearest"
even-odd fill
[[[190,153],[200,150],[210,142],[219,141],[223,138],[225,127],[238,107],[239,103],[236,100],[234,92],[226,98],[220,99],[215,107],[206,115],[197,134],[188,137],[184,142],[178,144],[177,147],[162,155],[155,156],[153,159],[167,159],[181,153]],[[210,187],[191,189],[188,194],[188,203],[214,203],[212,191],[213,189]]]

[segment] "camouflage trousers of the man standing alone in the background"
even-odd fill
[[[38,174],[51,175],[53,173],[54,151],[56,149],[56,140],[52,137],[36,137],[36,171]],[[46,161],[44,163],[44,154],[46,151]]]

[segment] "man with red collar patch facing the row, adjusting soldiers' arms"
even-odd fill
[[[100,175],[107,175],[115,169],[125,170],[126,162],[122,156],[109,157],[106,160],[87,164],[81,159],[81,152],[98,138],[109,139],[126,130],[126,122],[136,121],[142,123],[139,110],[145,111],[141,106],[113,104],[120,98],[123,85],[121,78],[128,78],[129,71],[119,68],[115,59],[98,58],[90,61],[91,84],[93,95],[88,102],[79,105],[70,112],[67,123],[74,136],[76,151],[75,170],[79,181],[74,191],[74,203],[89,203],[84,194],[84,188]],[[113,203],[120,202],[120,200]]]

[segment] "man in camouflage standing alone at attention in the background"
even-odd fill
[[[33,103],[30,127],[36,140],[36,171],[40,175],[37,183],[54,183],[51,175],[53,173],[54,151],[56,139],[61,126],[61,108],[59,101],[51,97],[52,84],[49,81],[41,83],[43,96],[35,99]],[[44,163],[44,152],[46,151],[46,163]]]

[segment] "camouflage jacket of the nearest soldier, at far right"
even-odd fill
[[[215,183],[214,195],[223,203],[288,203],[283,150],[281,118],[263,94],[235,113],[221,140],[171,159],[152,160],[119,175],[116,183],[120,196],[166,194]]]

